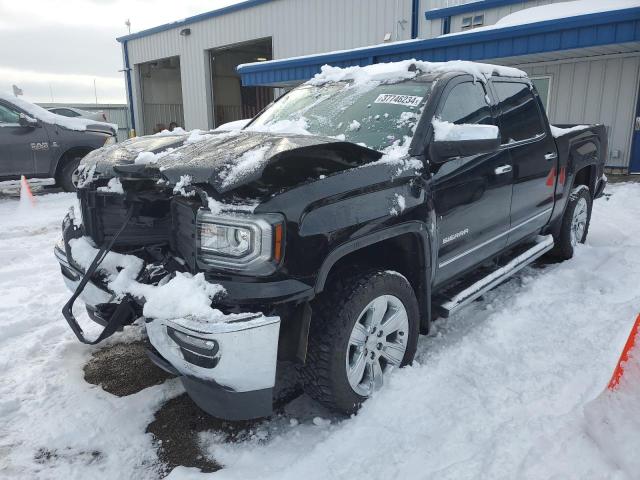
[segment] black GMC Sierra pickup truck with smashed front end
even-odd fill
[[[467,62],[328,69],[240,131],[144,163],[110,148],[87,158],[82,223],[68,215],[55,248],[64,316],[86,343],[142,318],[152,360],[226,419],[269,415],[291,362],[309,395],[355,412],[434,318],[572,257],[606,185],[603,126],[552,127],[524,73]],[[136,288],[115,289],[122,259]],[[188,291],[151,308],[154,289],[203,278],[218,320],[167,318]]]

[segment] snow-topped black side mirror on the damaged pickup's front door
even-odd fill
[[[457,125],[435,118],[433,133],[430,153],[436,163],[495,152],[501,144],[500,130],[495,125]]]

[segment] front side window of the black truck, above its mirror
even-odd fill
[[[442,106],[440,120],[460,125],[480,123],[494,125],[491,108],[480,82],[465,82],[453,87]]]

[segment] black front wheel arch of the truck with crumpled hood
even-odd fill
[[[318,271],[315,293],[325,289],[332,274],[358,264],[395,270],[404,275],[418,299],[420,332],[428,332],[431,321],[431,241],[426,224],[419,221],[402,223],[336,247]]]

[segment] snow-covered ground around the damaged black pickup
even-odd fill
[[[414,366],[393,372],[354,418],[332,417],[302,397],[242,440],[201,433],[203,454],[224,466],[209,475],[634,478],[637,460],[616,455],[606,435],[592,436],[603,430],[603,402],[593,400],[640,311],[640,184],[608,193],[573,260],[527,268],[436,322]],[[116,397],[85,382],[83,366],[98,347],[78,343],[60,314],[69,294],[52,254],[74,202],[43,195],[21,210],[17,200],[0,200],[0,477],[157,478],[145,429],[182,388],[172,379]],[[129,328],[110,341],[138,335]],[[609,400],[605,407],[616,408]],[[640,402],[626,408],[615,438],[637,453]],[[204,476],[184,467],[170,474]]]

